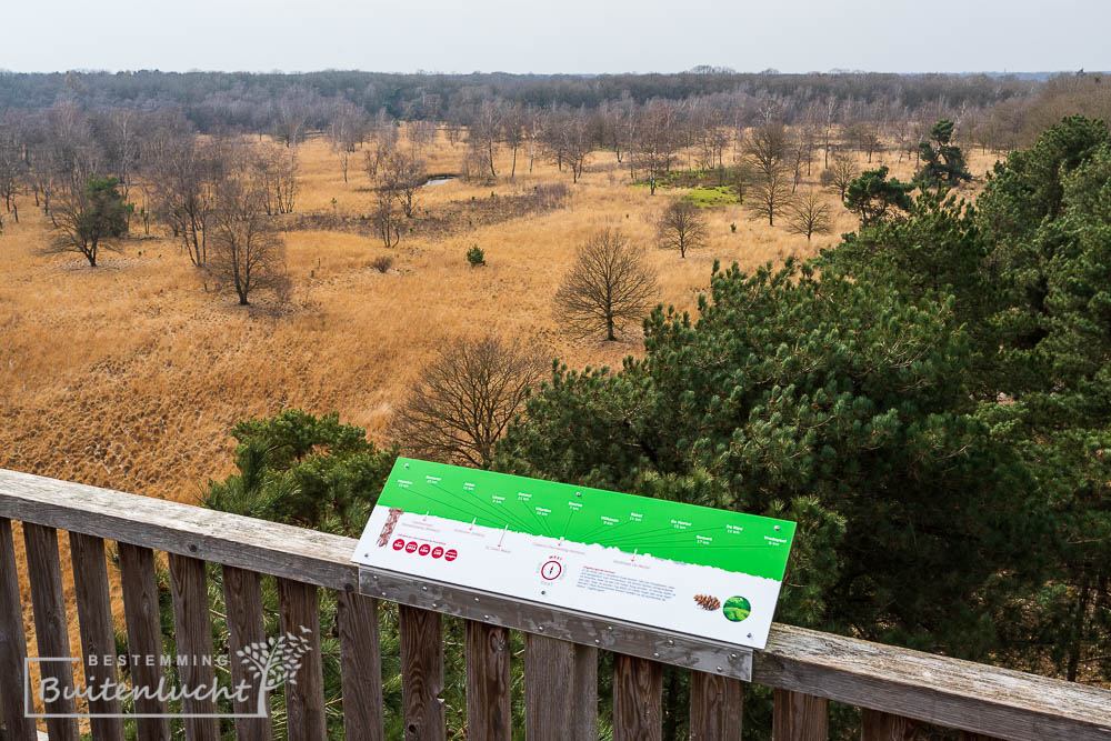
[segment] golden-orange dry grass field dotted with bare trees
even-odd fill
[[[466,151],[440,136],[424,154],[429,171],[458,172]],[[370,211],[360,152],[351,158],[349,183],[323,139],[301,144],[298,157],[298,212]],[[973,172],[982,176],[992,159],[973,156]],[[499,174],[508,174],[509,160],[503,151]],[[910,163],[890,153],[888,160],[894,174],[911,177]],[[879,156],[873,166],[881,162]],[[815,186],[819,171],[815,161],[812,181],[802,187]],[[434,212],[488,199],[491,190],[512,196],[553,181],[570,184],[570,172],[538,160],[530,174],[524,151],[514,180],[428,187],[421,207]],[[599,228],[620,228],[642,244],[660,277],[660,302],[683,310],[708,287],[714,260],[753,269],[810,257],[855,228],[834,202],[833,233],[808,244],[781,226],[750,220],[739,206],[718,207],[709,212],[709,246],[680,259],[655,247],[653,221],[685,191],[653,197],[630,184],[628,168],[611,152],[594,152],[570,206],[546,214],[476,223],[442,239],[402,238],[396,250],[349,232],[290,231],[300,308],[281,317],[267,311],[264,294],[244,308],[232,296],[207,292],[178,243],[168,236],[140,238],[141,224],[96,269],[77,254],[42,256],[49,221],[24,198],[21,222],[6,219],[0,237],[0,468],[194,502],[209,478],[232,471],[231,425],[282,405],[338,410],[372,440],[390,442],[407,389],[437,348],[460,336],[520,338],[572,368],[620,368],[623,357],[642,352],[639,328],[618,342],[571,341],[552,313],[577,246]],[[472,244],[486,251],[487,267],[468,266],[463,256]],[[394,258],[386,274],[371,267],[383,254]],[[60,542],[68,563],[68,542]],[[72,577],[64,571],[72,605]],[[119,609],[118,583],[113,592]],[[29,600],[24,605],[33,647]],[[69,624],[76,647],[76,615]]]

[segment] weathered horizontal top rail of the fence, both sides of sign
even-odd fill
[[[0,519],[340,592],[359,588],[352,539],[27,473],[0,470]],[[773,625],[752,680],[995,738],[1111,740],[1111,691],[789,625]]]

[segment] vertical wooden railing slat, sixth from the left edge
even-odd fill
[[[233,688],[250,690],[242,700],[236,695],[236,738],[239,741],[268,741],[273,737],[270,721],[269,692],[252,677],[240,651],[266,645],[267,630],[262,620],[262,585],[259,574],[236,567],[223,567],[223,601],[228,613],[228,660]],[[261,697],[260,697],[261,695]],[[258,714],[258,718],[247,715]]]

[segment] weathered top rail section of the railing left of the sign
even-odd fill
[[[0,469],[0,517],[353,590],[356,542],[314,530]]]

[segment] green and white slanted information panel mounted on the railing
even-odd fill
[[[763,648],[794,523],[399,458],[353,560]]]

